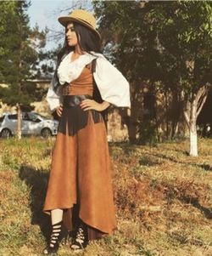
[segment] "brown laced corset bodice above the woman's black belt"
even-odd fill
[[[93,94],[91,65],[86,65],[81,71],[81,75],[70,83],[65,83],[62,88],[63,95]]]

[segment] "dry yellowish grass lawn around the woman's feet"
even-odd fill
[[[198,157],[187,156],[187,141],[109,144],[118,230],[77,255],[212,255],[212,139],[198,142]],[[0,139],[0,255],[42,255],[53,143]]]

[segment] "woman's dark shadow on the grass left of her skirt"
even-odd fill
[[[47,238],[50,235],[50,217],[42,213],[43,202],[47,191],[48,174],[45,170],[22,165],[19,177],[25,180],[31,190],[31,225],[39,225],[42,235]]]

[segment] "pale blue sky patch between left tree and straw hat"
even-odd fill
[[[27,10],[30,17],[30,25],[33,27],[37,23],[41,30],[47,26],[48,29],[53,31],[64,31],[64,27],[59,24],[58,17],[69,14],[70,8],[75,6],[81,6],[86,9],[91,6],[91,1],[31,0],[31,6]],[[51,31],[49,32],[49,37],[47,37],[47,49],[56,48],[59,43],[63,43],[64,38],[61,38],[60,42],[56,42],[50,36],[53,36]]]

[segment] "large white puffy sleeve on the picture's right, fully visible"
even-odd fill
[[[131,107],[129,82],[103,55],[97,58],[93,77],[103,100],[118,107]]]

